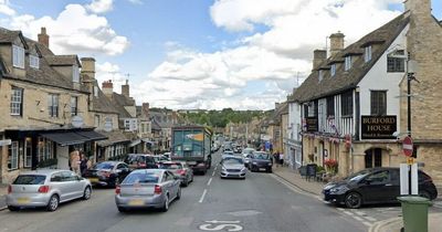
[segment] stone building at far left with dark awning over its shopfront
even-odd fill
[[[2,182],[22,169],[67,169],[72,150],[94,152],[105,138],[93,130],[78,57],[55,55],[49,39],[44,28],[39,41],[0,29]]]

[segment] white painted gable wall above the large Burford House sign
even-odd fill
[[[398,130],[400,128],[399,83],[406,73],[388,73],[387,54],[398,48],[406,50],[408,29],[409,27],[407,25],[358,85],[360,89],[360,115],[370,115],[370,91],[387,91],[387,115],[398,115]]]

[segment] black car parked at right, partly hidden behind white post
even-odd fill
[[[438,190],[430,176],[419,170],[419,196],[433,200]],[[345,178],[339,182],[327,183],[324,200],[347,208],[357,209],[367,203],[398,202],[400,196],[399,168],[370,168]]]

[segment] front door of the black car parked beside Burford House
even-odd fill
[[[387,190],[390,183],[390,171],[379,170],[371,175],[368,175],[364,180],[359,182],[360,192],[365,202],[381,202],[389,200],[389,193]]]

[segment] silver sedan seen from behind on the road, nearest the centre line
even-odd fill
[[[168,170],[135,170],[115,189],[115,203],[119,212],[143,208],[166,212],[171,201],[181,198],[180,183],[180,179]]]

